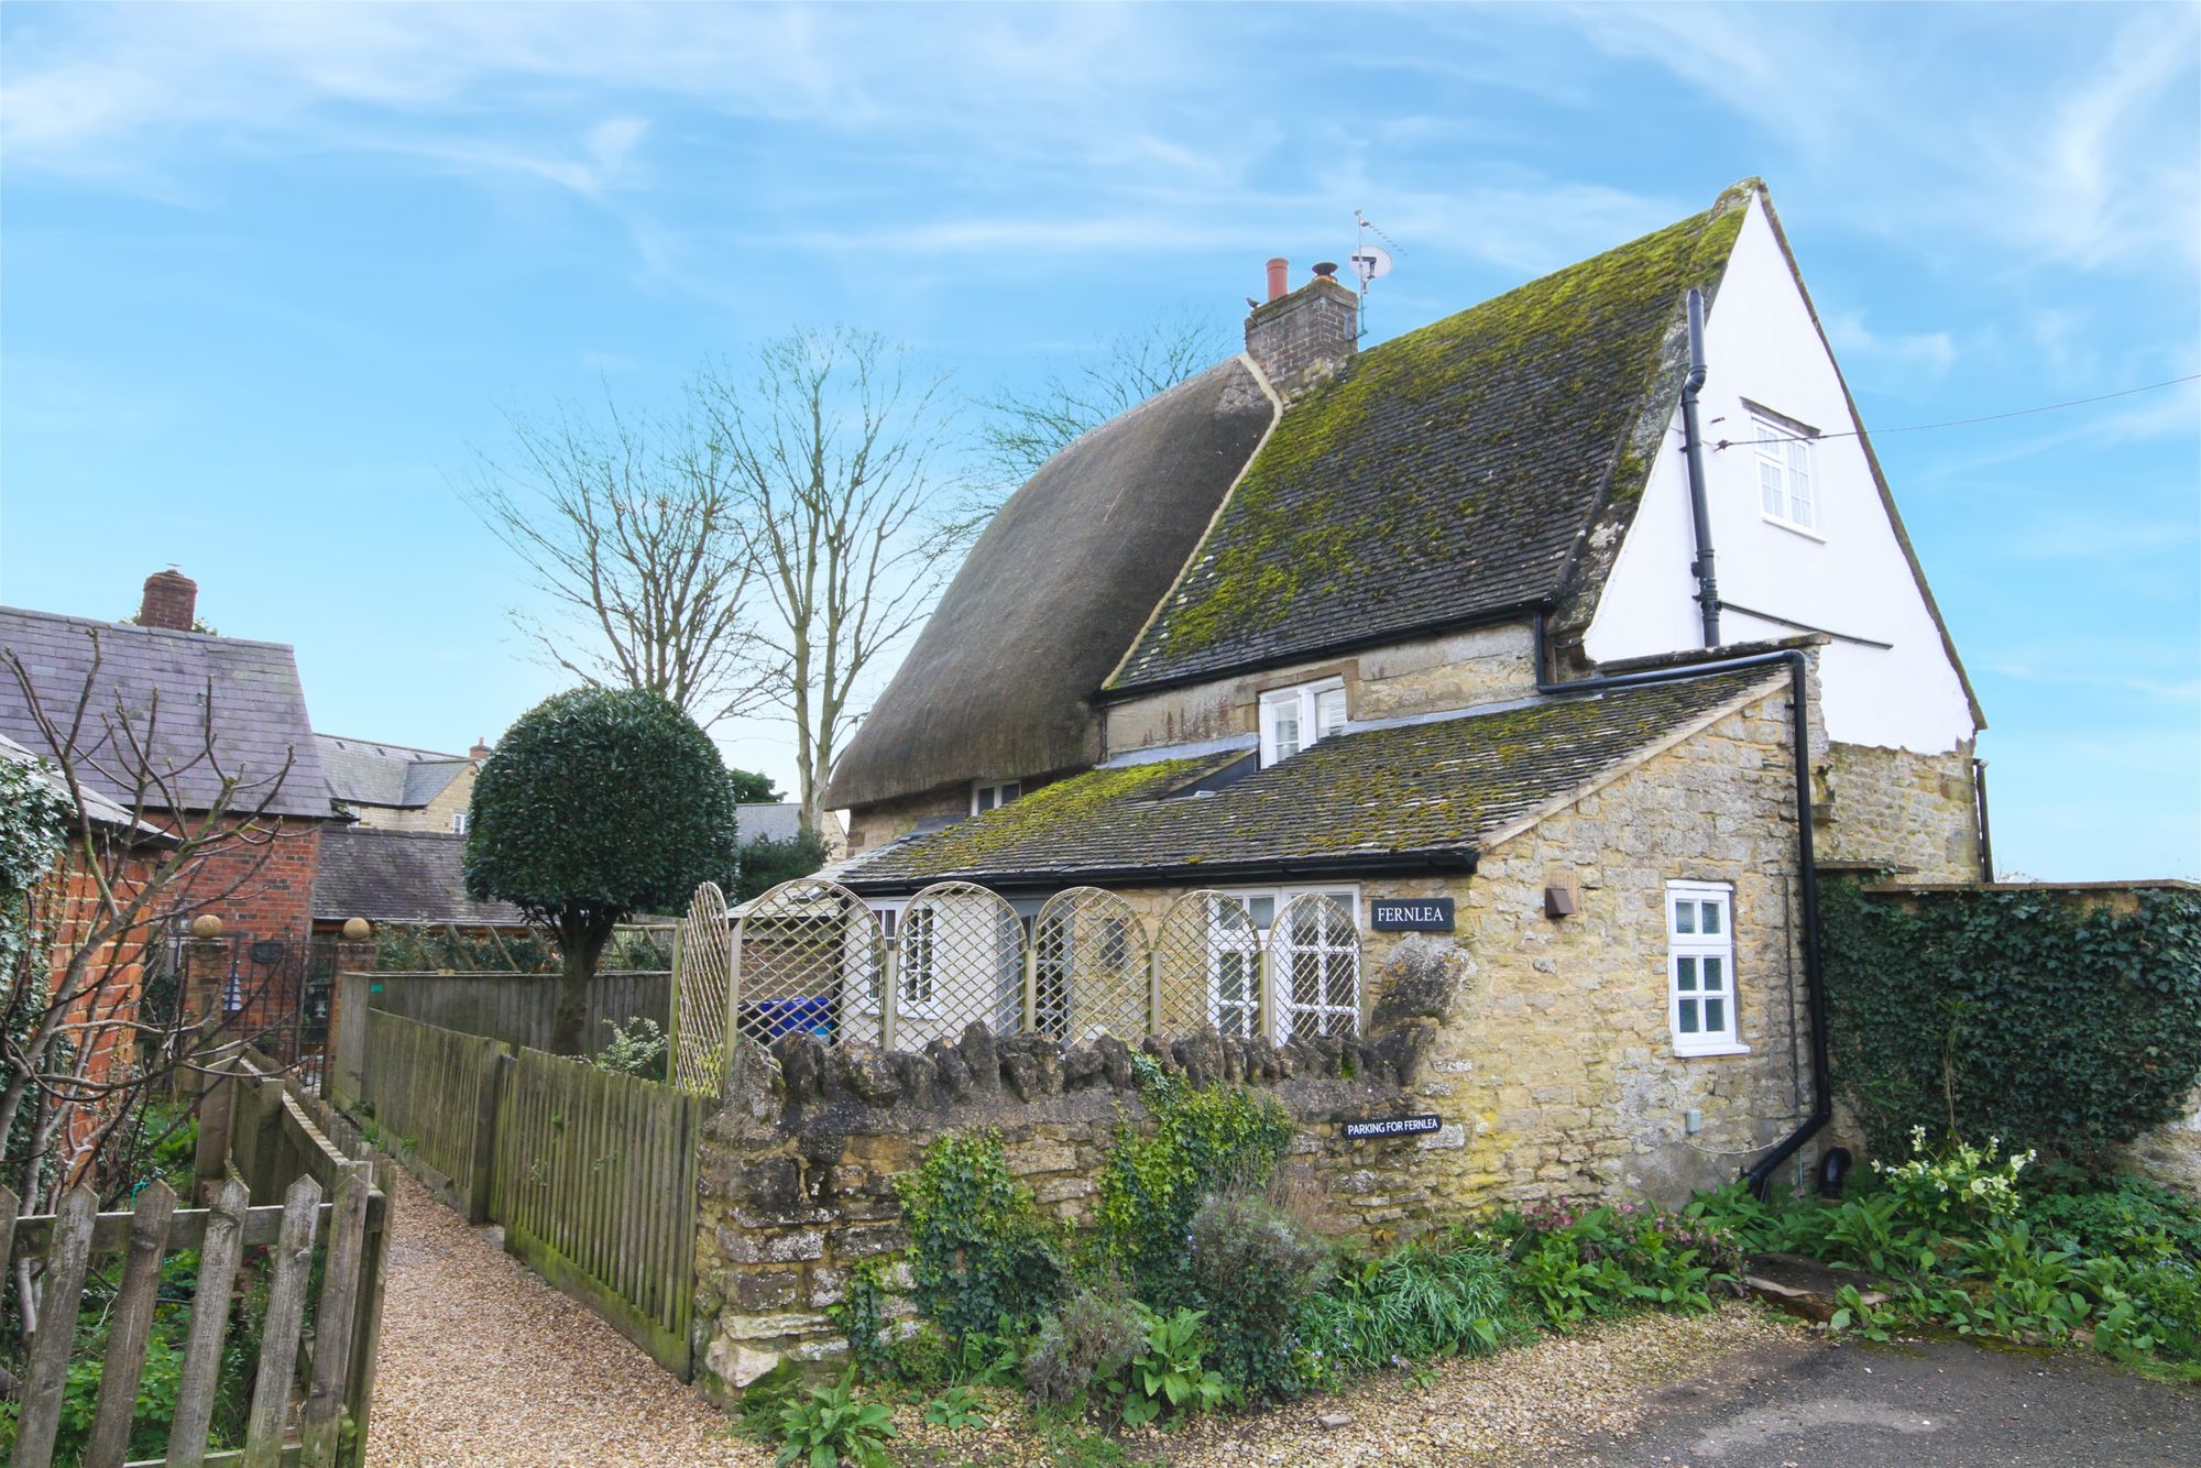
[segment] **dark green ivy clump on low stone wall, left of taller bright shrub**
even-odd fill
[[[1063,1296],[1061,1250],[1032,1191],[1010,1175],[997,1131],[940,1138],[894,1191],[918,1314],[949,1340],[1021,1336]]]

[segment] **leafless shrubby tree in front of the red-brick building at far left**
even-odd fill
[[[264,995],[233,995],[242,1008],[189,1015],[143,1004],[143,975],[172,922],[187,922],[260,880],[275,843],[286,839],[271,814],[291,759],[264,775],[229,770],[216,753],[213,687],[187,711],[189,735],[163,731],[154,695],[143,709],[123,698],[99,706],[99,634],[92,660],[68,706],[48,706],[13,649],[0,669],[13,676],[31,720],[53,751],[42,770],[9,766],[24,784],[15,806],[33,821],[51,817],[55,865],[9,896],[9,924],[44,942],[9,942],[0,1004],[0,1138],[26,1142],[26,1210],[57,1202],[84,1164],[119,1138],[134,1138],[143,1105],[176,1078],[222,1067],[273,1023]],[[176,753],[180,751],[180,753]],[[24,777],[29,775],[29,781]],[[211,775],[211,795],[202,792]],[[200,792],[185,795],[185,779]],[[189,810],[187,810],[189,806]],[[20,832],[11,832],[20,836]],[[29,843],[37,852],[37,843]],[[253,1032],[260,1015],[262,1032]],[[128,1180],[99,1180],[123,1186]]]

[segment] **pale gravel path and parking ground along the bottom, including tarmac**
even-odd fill
[[[1048,1464],[1015,1393],[988,1431],[896,1411],[898,1461]],[[398,1180],[368,1461],[374,1468],[601,1464],[766,1468],[768,1448],[585,1307]],[[2201,1464],[2201,1393],[2080,1351],[1952,1343],[1831,1347],[1787,1316],[1635,1316],[1338,1398],[1129,1433],[1171,1468],[2023,1468]],[[1089,1461],[1089,1459],[1087,1459]]]

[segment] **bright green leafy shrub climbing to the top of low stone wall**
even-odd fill
[[[1098,1244],[1142,1301],[1175,1307],[1193,1299],[1184,1277],[1193,1213],[1211,1195],[1266,1186],[1292,1144],[1292,1116],[1244,1087],[1193,1092],[1175,1076],[1145,1076],[1153,1129],[1116,1129],[1100,1169]]]

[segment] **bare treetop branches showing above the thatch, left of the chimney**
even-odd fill
[[[979,456],[999,502],[1076,436],[1127,407],[1206,372],[1230,354],[1230,339],[1204,315],[1178,310],[1098,343],[1067,376],[1048,374],[1030,392],[984,398]]]

